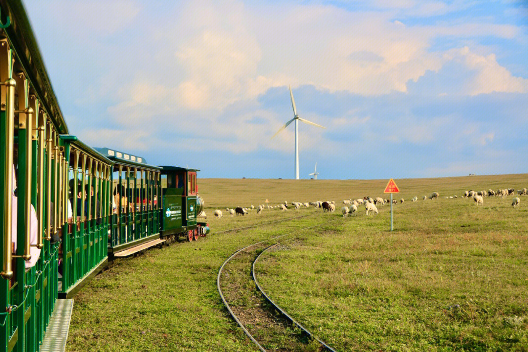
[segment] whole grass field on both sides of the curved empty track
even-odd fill
[[[261,284],[338,350],[527,350],[528,197],[444,199],[466,189],[522,188],[528,175],[396,180],[404,204],[311,230],[258,265]],[[230,319],[216,274],[234,251],[323,223],[313,208],[225,216],[225,207],[382,195],[386,180],[202,179],[213,233],[118,260],[75,298],[68,350],[255,351]],[[436,201],[413,196],[439,192]],[[338,206],[337,208],[340,208]],[[215,235],[234,227],[309,215]],[[284,248],[284,246],[283,246]],[[458,306],[457,306],[458,305]]]

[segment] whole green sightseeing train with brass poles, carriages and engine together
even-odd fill
[[[0,0],[0,97],[0,352],[60,350],[57,312],[109,261],[209,233],[200,170],[72,135],[20,0]]]

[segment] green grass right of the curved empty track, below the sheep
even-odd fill
[[[521,202],[528,201],[522,197]],[[528,350],[526,205],[486,198],[389,206],[265,253],[279,306],[338,350]]]

